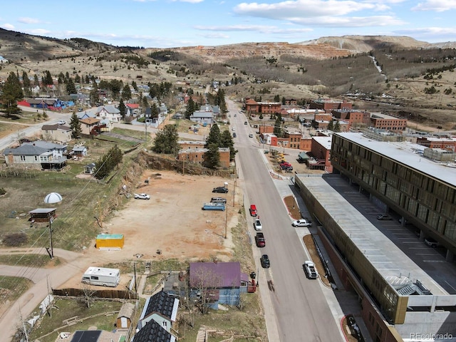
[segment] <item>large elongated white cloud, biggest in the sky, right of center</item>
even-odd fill
[[[290,17],[316,18],[327,16],[343,16],[354,11],[386,11],[390,9],[385,4],[360,2],[360,1],[338,1],[338,0],[296,0],[282,1],[275,4],[259,4],[256,2],[242,3],[234,7],[234,13],[245,16],[257,16],[269,19],[289,20]]]

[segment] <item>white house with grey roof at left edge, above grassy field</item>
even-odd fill
[[[37,140],[4,150],[6,165],[36,165],[42,169],[61,170],[66,166],[67,145]]]

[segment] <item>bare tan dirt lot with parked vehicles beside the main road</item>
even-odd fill
[[[145,192],[150,200],[134,199],[125,207],[113,212],[103,222],[103,232],[124,234],[122,250],[98,250],[90,246],[84,252],[87,266],[103,266],[134,260],[179,259],[180,261],[228,261],[232,255],[230,227],[239,221],[239,198],[242,189],[237,182],[235,207],[233,207],[234,180],[217,177],[180,175],[175,172],[147,170],[142,179],[150,177],[149,184],[141,183],[135,192]],[[228,194],[214,194],[213,187],[228,182]],[[227,198],[227,212],[202,210],[204,202],[212,196]],[[227,217],[227,239],[225,236]],[[157,251],[160,250],[161,254]],[[80,286],[81,275],[65,286]],[[125,276],[123,281],[128,281]]]

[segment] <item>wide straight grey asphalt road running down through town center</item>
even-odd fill
[[[264,152],[254,130],[244,125],[246,117],[239,107],[227,101],[231,125],[237,133],[238,165],[246,187],[245,202],[256,204],[266,238],[266,247],[254,247],[259,291],[264,304],[269,341],[343,341],[321,283],[306,279],[302,264],[309,259],[274,180],[265,165]],[[234,118],[236,114],[236,118]],[[255,136],[255,135],[254,135]],[[253,218],[247,217],[254,236]],[[259,258],[268,254],[271,268],[261,269]]]

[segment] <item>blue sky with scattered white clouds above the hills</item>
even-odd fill
[[[2,1],[0,27],[115,46],[167,48],[323,36],[456,41],[456,0]]]

